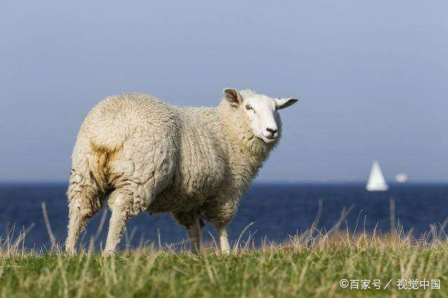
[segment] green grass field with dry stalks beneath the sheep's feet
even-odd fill
[[[250,239],[249,239],[249,242]],[[92,250],[25,252],[3,245],[1,297],[447,297],[448,243],[403,235],[328,234],[293,237],[283,245],[220,255],[171,249],[134,250],[103,257]],[[57,249],[55,249],[57,250]],[[370,290],[342,288],[342,279],[370,280]],[[376,290],[374,280],[381,281]],[[399,290],[398,279],[418,280]],[[421,288],[421,281],[428,288]],[[388,281],[388,287],[384,286]],[[431,290],[440,280],[440,290]],[[356,285],[356,282],[350,282]],[[365,282],[366,283],[366,282]],[[412,281],[415,285],[415,282]],[[423,282],[424,285],[424,282]],[[361,283],[358,283],[359,288]],[[350,287],[350,286],[349,286]]]

